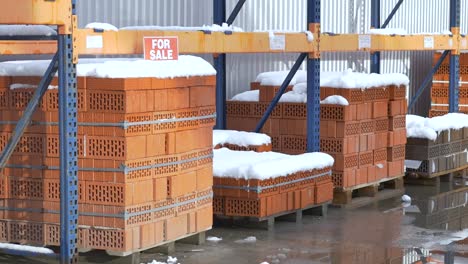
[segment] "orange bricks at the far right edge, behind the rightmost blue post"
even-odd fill
[[[434,65],[442,56],[442,53],[435,53]],[[450,77],[450,56],[447,56],[440,65],[432,81],[431,89],[431,111],[430,117],[442,116],[448,113],[449,109],[449,77]],[[468,114],[468,53],[460,54],[460,92],[459,110]]]

